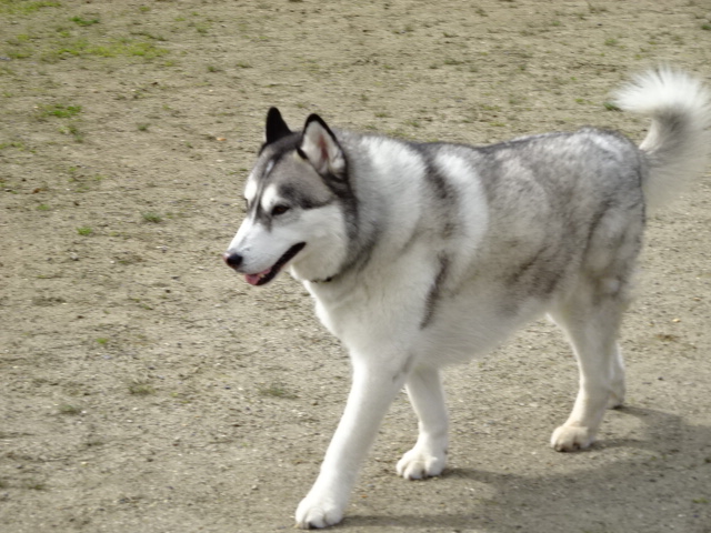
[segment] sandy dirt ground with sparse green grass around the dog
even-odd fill
[[[288,275],[221,261],[279,105],[474,144],[584,124],[660,61],[711,82],[709,0],[0,0],[0,530],[291,529],[349,388]],[[577,369],[531,324],[445,376],[450,463],[394,464],[395,402],[339,530],[711,532],[711,177],[649,221],[599,443],[551,431]]]

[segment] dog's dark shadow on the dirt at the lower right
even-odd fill
[[[353,510],[339,529],[711,533],[711,428],[689,425],[680,416],[650,409],[618,411],[639,419],[644,435],[597,443],[597,449],[629,449],[613,461],[597,457],[601,465],[591,466],[585,460],[571,463],[564,474],[538,476],[454,467],[429,483],[437,484],[440,499],[451,491],[457,505],[439,501],[428,507],[430,502],[412,499],[409,503],[417,511],[407,514]],[[585,453],[579,452],[583,459]],[[471,493],[471,501],[464,496],[462,502],[461,494],[472,482],[493,487],[493,497]]]

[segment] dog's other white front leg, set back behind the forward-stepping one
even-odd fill
[[[414,447],[398,462],[398,474],[408,480],[439,475],[447,464],[448,415],[437,369],[415,368],[407,391],[418,415],[419,435]]]

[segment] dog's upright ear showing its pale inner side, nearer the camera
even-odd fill
[[[311,114],[301,134],[299,154],[309,160],[317,172],[341,178],[346,170],[346,158],[336,135],[323,119]]]

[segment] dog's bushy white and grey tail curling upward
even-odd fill
[[[684,72],[659,68],[624,87],[617,103],[652,119],[640,149],[649,162],[643,190],[653,210],[705,169],[711,153],[711,93]]]

